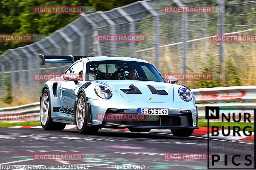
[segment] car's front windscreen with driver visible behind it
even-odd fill
[[[89,62],[86,64],[86,80],[166,82],[152,64],[134,61]]]

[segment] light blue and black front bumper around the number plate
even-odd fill
[[[179,129],[189,128],[198,129],[197,127],[197,110],[192,102],[187,103],[155,103],[155,102],[127,102],[127,101],[109,101],[88,99],[90,107],[89,126],[96,125],[100,128],[150,128],[150,129]],[[108,114],[109,108],[122,109],[120,114],[138,114],[138,108],[168,108],[169,115],[158,116],[154,121],[102,121],[97,119],[97,114]],[[180,111],[190,111],[180,113]],[[114,114],[119,114],[114,112]]]

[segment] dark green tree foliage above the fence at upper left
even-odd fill
[[[34,6],[95,6],[96,11],[107,11],[136,0],[1,0],[0,34],[44,34],[66,26],[79,14],[35,14]],[[0,54],[31,42],[0,42]]]

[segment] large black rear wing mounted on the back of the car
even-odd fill
[[[73,55],[43,55],[39,54],[39,62],[41,65],[44,63],[74,63],[84,57],[90,56],[73,56]]]

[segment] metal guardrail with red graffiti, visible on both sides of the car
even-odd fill
[[[256,101],[256,85],[200,88],[191,89],[191,91],[195,94],[196,97],[198,117],[205,117],[206,105],[219,107],[256,108],[256,102],[219,103],[229,101]],[[199,104],[206,102],[218,103]],[[36,113],[37,120],[40,120],[39,102],[15,107],[0,108],[0,114],[4,113]]]

